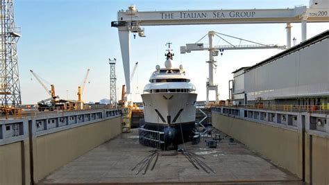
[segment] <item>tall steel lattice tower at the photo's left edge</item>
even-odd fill
[[[19,28],[15,27],[13,0],[1,0],[0,100],[1,112],[22,106],[17,62]]]

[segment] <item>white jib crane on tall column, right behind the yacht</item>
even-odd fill
[[[226,42],[227,45],[215,46],[214,45],[214,36],[219,37],[223,42]],[[206,46],[200,41],[208,36],[209,44]],[[239,44],[232,44],[228,41],[228,39],[223,37],[229,37],[231,39],[238,39]],[[241,44],[242,42],[248,42],[250,44]],[[217,61],[214,60],[215,56],[223,55],[223,51],[225,50],[238,50],[238,49],[286,49],[286,46],[278,46],[277,44],[260,44],[258,42],[253,42],[247,39],[242,39],[239,37],[233,37],[230,35],[226,35],[223,33],[218,33],[213,30],[209,31],[205,34],[201,39],[199,39],[194,44],[186,44],[186,46],[180,46],[180,53],[190,53],[191,51],[209,51],[209,78],[206,82],[206,103],[209,103],[209,91],[215,91],[216,103],[219,103],[219,94],[218,94],[218,85],[214,84],[214,69],[217,68]]]

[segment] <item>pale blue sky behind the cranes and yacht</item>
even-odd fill
[[[117,11],[135,4],[138,10],[210,10],[242,8],[294,8],[308,6],[308,1],[106,1],[106,0],[17,0],[16,26],[22,28],[18,43],[19,75],[22,103],[36,103],[49,98],[47,92],[31,76],[33,69],[56,87],[61,98],[76,99],[87,69],[90,77],[83,99],[99,101],[110,93],[108,58],[117,58],[117,94],[121,94],[124,73],[119,49],[117,28],[110,22],[117,19]],[[301,24],[292,24],[292,37],[301,42]],[[328,23],[307,24],[307,38],[329,28]],[[130,67],[139,66],[132,82],[133,100],[140,94],[156,64],[165,62],[165,43],[174,44],[174,64],[183,64],[187,76],[196,85],[198,100],[205,100],[205,80],[208,77],[208,52],[196,51],[181,55],[179,47],[194,43],[209,30],[225,33],[264,44],[286,43],[285,24],[235,24],[204,26],[149,26],[146,37],[130,39]],[[205,39],[205,43],[208,41]],[[215,44],[224,44],[216,40]],[[260,62],[280,50],[224,51],[217,57],[215,80],[219,84],[220,99],[228,98],[228,80],[235,69]],[[32,79],[32,80],[31,80]],[[214,94],[210,94],[214,100]]]

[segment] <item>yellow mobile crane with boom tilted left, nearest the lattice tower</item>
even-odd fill
[[[38,76],[32,70],[30,70],[30,72],[35,77],[35,79],[37,79],[37,82],[40,83],[40,85],[44,88],[44,90],[47,91],[47,94],[49,94],[49,96],[51,96],[50,98],[47,98],[45,100],[39,101],[37,103],[37,109],[39,111],[53,111],[55,109],[64,109],[65,104],[60,103],[60,100],[59,100],[60,97],[59,96],[56,96],[56,94],[55,94],[55,86],[54,85],[50,85],[51,86],[51,90],[49,90],[47,88],[47,86],[44,85],[44,82],[42,82],[42,80],[41,80],[42,78],[40,76]]]

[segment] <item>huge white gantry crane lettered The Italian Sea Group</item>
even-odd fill
[[[139,11],[135,6],[119,10],[117,21],[121,57],[124,64],[126,91],[130,94],[130,32],[145,37],[142,26],[201,24],[286,24],[287,48],[291,46],[291,23],[301,23],[302,41],[306,39],[307,22],[329,22],[328,1],[310,0],[310,8],[244,9],[244,10],[175,10]]]

